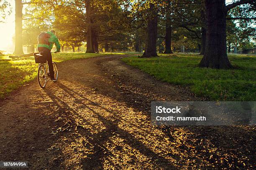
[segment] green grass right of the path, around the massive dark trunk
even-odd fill
[[[216,70],[198,67],[202,56],[176,54],[160,57],[126,57],[122,60],[158,80],[175,85],[189,85],[192,92],[209,100],[255,101],[256,56],[230,55],[235,69]]]

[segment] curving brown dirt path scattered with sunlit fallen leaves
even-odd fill
[[[59,63],[0,102],[0,160],[56,169],[253,169],[253,127],[156,127],[152,100],[204,100],[154,80],[120,57]]]

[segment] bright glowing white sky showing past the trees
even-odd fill
[[[12,13],[6,18],[5,23],[0,23],[0,50],[13,51],[13,37],[15,33],[15,2],[14,0],[9,0]],[[226,3],[230,3],[232,0],[226,0]]]

